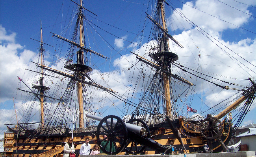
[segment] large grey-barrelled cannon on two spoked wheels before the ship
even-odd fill
[[[87,114],[86,117],[100,121],[96,131],[96,141],[102,152],[115,155],[122,150],[129,154],[139,154],[146,147],[164,153],[167,147],[150,138],[147,124],[139,119],[133,119],[131,123],[125,123],[120,117],[109,115],[104,118]],[[106,125],[104,125],[105,123]],[[100,137],[106,135],[106,138]],[[106,142],[105,140],[108,139]],[[105,141],[105,143],[103,142]],[[117,147],[117,144],[119,146]],[[130,149],[126,147],[131,144]],[[109,147],[106,149],[106,147]]]

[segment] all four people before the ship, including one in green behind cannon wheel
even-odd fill
[[[107,136],[104,135],[103,139],[105,140],[101,142],[102,147],[110,151],[110,142],[108,143],[107,146],[105,146],[108,141]],[[82,144],[80,148],[80,152],[79,152],[80,155],[96,155],[98,153],[102,153],[102,150],[100,150],[100,147],[98,146],[98,144],[95,144],[93,146],[91,153],[90,153],[90,150],[91,150],[91,145],[89,144],[89,138],[87,137],[85,139],[85,143]],[[64,152],[63,157],[72,157],[72,155],[75,155],[75,148],[74,148],[72,138],[69,138],[69,141],[65,144],[63,152]],[[111,152],[115,152],[115,147],[112,146]]]

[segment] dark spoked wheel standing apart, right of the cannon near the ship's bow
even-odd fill
[[[216,117],[207,117],[200,123],[200,133],[206,139],[218,138],[222,130],[222,123]]]

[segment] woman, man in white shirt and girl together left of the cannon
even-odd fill
[[[95,144],[93,146],[91,153],[90,153],[90,150],[91,150],[91,145],[89,144],[89,138],[87,137],[85,139],[85,143],[82,144],[80,148],[80,155],[89,155],[89,154],[96,155],[100,153],[100,148],[98,144]],[[72,138],[69,138],[69,142],[65,144],[63,152],[64,152],[63,157],[71,157],[72,155],[75,155],[75,148],[74,148]]]

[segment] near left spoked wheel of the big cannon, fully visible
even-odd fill
[[[103,125],[103,123],[106,123],[106,125]],[[100,139],[100,137],[104,135],[107,135],[107,138]],[[127,128],[124,121],[115,115],[104,117],[98,124],[96,138],[97,144],[102,152],[108,155],[118,154],[126,146]],[[106,139],[108,139],[107,142],[105,141]],[[117,147],[116,142],[120,144],[121,147]],[[109,146],[109,150],[106,150],[106,146]]]

